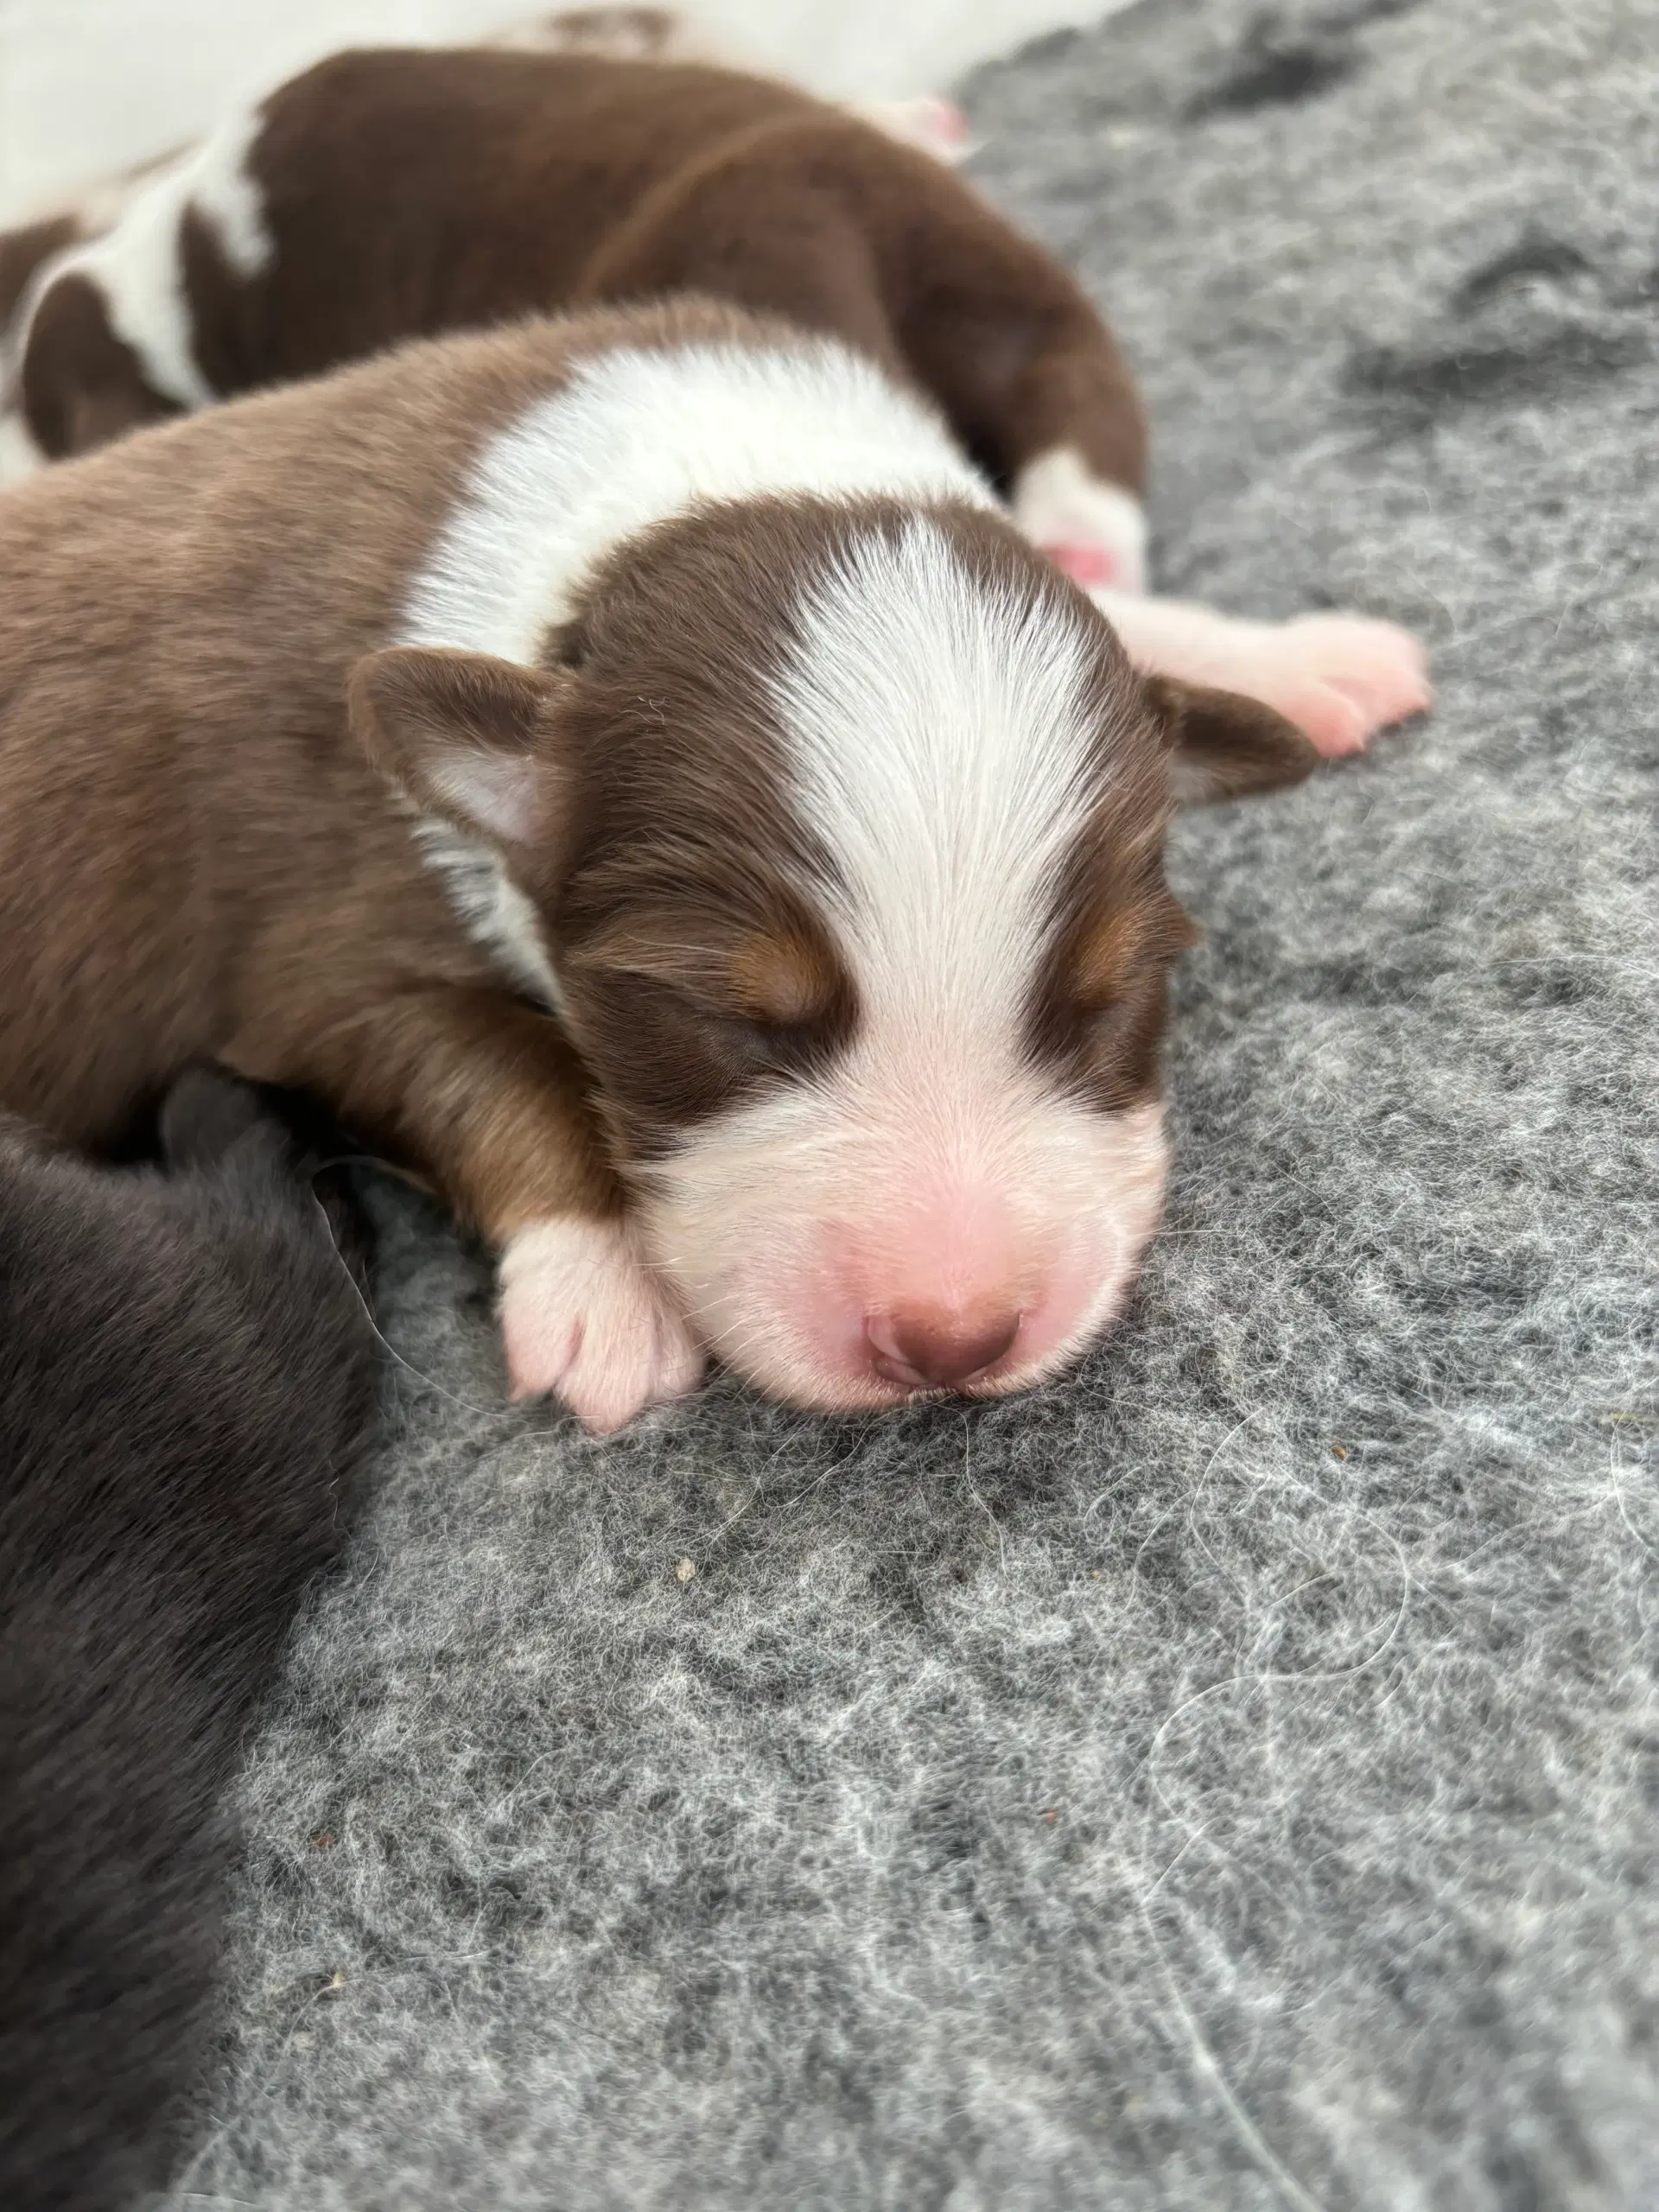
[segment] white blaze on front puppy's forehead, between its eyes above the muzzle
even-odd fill
[[[1091,796],[1088,639],[927,518],[854,538],[779,679],[796,805],[838,863],[838,933],[883,1055],[900,1024],[1006,1064]]]

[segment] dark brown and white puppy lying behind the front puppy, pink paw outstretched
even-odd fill
[[[1327,754],[1427,701],[1389,624],[1141,602],[1141,409],[1071,274],[891,131],[650,58],[648,35],[681,53],[670,31],[599,9],[538,33],[564,51],[341,53],[155,173],[106,234],[13,243],[15,268],[33,257],[9,345],[35,447],[80,453],[416,334],[703,292],[927,394],[1137,666],[1181,655]],[[602,33],[611,51],[571,51]]]

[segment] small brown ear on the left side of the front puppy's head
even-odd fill
[[[495,845],[553,830],[553,721],[564,675],[487,653],[392,646],[352,670],[352,728],[369,761],[425,814]]]

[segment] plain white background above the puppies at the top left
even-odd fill
[[[0,219],[195,137],[354,42],[460,40],[555,0],[0,0]],[[830,97],[929,93],[1124,0],[690,0],[757,64]]]

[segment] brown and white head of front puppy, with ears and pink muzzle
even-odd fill
[[[1192,936],[1172,792],[1305,774],[1294,730],[1139,679],[1000,518],[876,500],[659,524],[544,666],[374,655],[354,714],[531,902],[732,1367],[814,1407],[1000,1394],[1117,1314]]]

